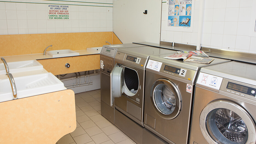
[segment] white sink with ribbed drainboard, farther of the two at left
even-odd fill
[[[10,73],[42,70],[43,66],[36,60],[31,61],[18,61],[18,62],[7,62]],[[0,74],[6,74],[4,63],[0,64]]]

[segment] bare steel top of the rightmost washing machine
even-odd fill
[[[201,68],[200,72],[248,83],[250,85],[255,85],[256,83],[256,65],[254,64],[231,61]]]

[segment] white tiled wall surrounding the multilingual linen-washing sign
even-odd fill
[[[70,6],[70,20],[48,20],[48,4]],[[112,0],[0,0],[0,35],[113,31]]]

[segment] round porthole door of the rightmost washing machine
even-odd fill
[[[213,101],[204,107],[200,129],[208,143],[249,144],[256,141],[255,122],[251,115],[227,100]]]

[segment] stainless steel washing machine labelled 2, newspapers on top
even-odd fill
[[[146,66],[145,128],[168,143],[189,142],[195,82],[201,67],[230,60],[214,58],[210,64],[170,60],[170,54],[150,56]]]

